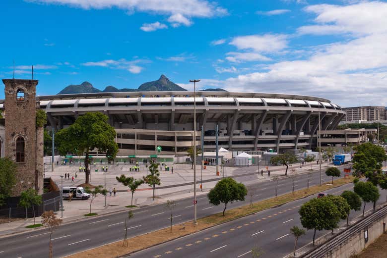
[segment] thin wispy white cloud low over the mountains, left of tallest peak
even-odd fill
[[[81,65],[83,66],[97,66],[97,67],[108,67],[112,69],[127,70],[131,73],[140,73],[143,70],[143,67],[137,65],[138,63],[148,63],[148,60],[143,59],[134,59],[131,61],[121,58],[119,60],[107,59],[96,62],[85,62]]]

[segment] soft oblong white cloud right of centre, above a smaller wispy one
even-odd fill
[[[276,52],[287,47],[287,35],[265,34],[235,37],[229,44],[239,50],[254,50],[256,52]]]

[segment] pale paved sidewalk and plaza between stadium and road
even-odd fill
[[[322,170],[326,169],[326,163],[322,164]],[[332,164],[330,164],[332,166]],[[98,166],[97,166],[98,167]],[[131,193],[129,188],[123,186],[118,183],[116,180],[116,176],[120,176],[121,174],[125,174],[126,176],[133,176],[134,178],[142,178],[142,176],[146,175],[145,167],[140,166],[140,172],[128,172],[129,166],[111,166],[109,171],[106,173],[106,188],[109,190],[110,187],[115,187],[118,190],[117,195],[114,197],[106,196],[106,206],[105,198],[102,195],[97,196],[93,200],[91,206],[91,212],[96,212],[98,215],[108,214],[112,212],[119,212],[124,210],[129,210],[125,206],[130,205]],[[46,172],[46,177],[50,177],[61,187],[61,177],[65,172],[70,173],[70,178],[73,175],[74,170],[77,169],[77,166],[59,166],[55,169],[54,172]],[[292,174],[292,168],[296,174],[303,174],[309,172],[311,169],[310,164],[304,164],[302,168],[300,168],[300,164],[289,165],[288,175]],[[264,170],[263,176],[260,175],[260,170]],[[265,166],[250,166],[250,167],[227,167],[227,176],[235,177],[235,180],[245,183],[246,185],[256,184],[258,182],[269,181],[272,180],[274,175],[279,175],[283,177],[285,174],[285,166],[269,166],[270,177],[267,176]],[[316,163],[313,164],[313,169],[318,170],[319,165]],[[94,170],[93,170],[94,171]],[[259,172],[259,173],[258,173]],[[247,174],[256,173],[254,175],[244,176]],[[76,186],[81,183],[84,183],[84,173],[79,173],[78,178],[71,182],[71,180],[63,180],[64,186]],[[216,181],[203,183],[203,189],[199,188],[200,179],[201,179],[201,168],[200,165],[196,166],[196,181],[197,188],[196,193],[197,196],[207,194],[211,188],[215,186],[218,180],[222,179],[222,174],[220,176],[216,176],[215,174],[215,166],[207,166],[207,169],[202,171],[202,179],[216,179]],[[193,197],[194,195],[194,186],[193,184],[177,186],[173,187],[173,185],[182,184],[182,183],[193,183],[194,176],[193,170],[191,169],[191,164],[175,164],[174,165],[174,173],[171,171],[160,171],[160,179],[161,179],[161,187],[162,189],[156,189],[156,199],[152,200],[152,190],[151,188],[143,184],[139,187],[139,189],[133,195],[133,205],[138,207],[141,206],[149,206],[156,205],[160,203],[165,203],[167,200],[178,200]],[[104,174],[102,172],[92,172],[92,181],[93,185],[104,185]],[[89,205],[90,200],[72,200],[68,202],[67,200],[63,201],[64,211],[63,211],[63,220],[64,222],[76,221],[80,219],[84,219],[86,217],[83,214],[89,213]],[[58,217],[61,216],[61,211],[57,211]],[[36,217],[36,222],[40,223],[41,217]],[[7,234],[24,232],[24,231],[32,231],[36,229],[27,229],[25,226],[33,224],[33,218],[29,218],[27,220],[17,220],[12,221],[10,223],[0,224],[0,236],[4,236]],[[41,227],[40,227],[41,228]],[[40,229],[37,228],[37,229]]]

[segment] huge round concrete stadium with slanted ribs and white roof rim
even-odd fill
[[[37,97],[55,130],[89,111],[108,115],[119,155],[185,155],[193,145],[194,92],[120,92]],[[345,111],[329,100],[300,95],[196,92],[196,128],[204,128],[204,151],[219,147],[252,151],[311,148],[319,110],[322,130],[333,130]],[[319,108],[320,103],[320,108]],[[200,132],[196,133],[200,145]]]

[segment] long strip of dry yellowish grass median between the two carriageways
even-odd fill
[[[280,195],[277,200],[274,198],[267,199],[261,202],[254,203],[253,206],[246,205],[238,208],[233,208],[226,210],[225,216],[222,216],[222,213],[212,214],[204,218],[199,218],[197,220],[197,225],[194,225],[193,221],[188,221],[182,224],[172,226],[172,233],[170,233],[170,228],[166,227],[154,232],[143,234],[140,236],[132,237],[128,239],[128,247],[123,247],[123,241],[118,241],[112,244],[104,245],[97,247],[95,249],[87,250],[68,256],[67,258],[95,258],[95,257],[104,257],[104,258],[115,258],[127,255],[129,253],[137,252],[139,250],[161,244],[179,237],[183,237],[203,229],[209,228],[211,226],[217,225],[222,222],[230,221],[239,217],[243,217],[253,212],[258,212],[263,209],[267,209],[273,206],[278,206],[285,204],[287,202],[295,201],[300,198],[304,198],[316,193],[323,192],[325,190],[338,187],[353,181],[353,177],[349,178],[340,178],[333,181],[333,185],[323,185],[323,186],[311,186],[309,191],[306,189],[298,190],[292,193]],[[274,191],[274,189],[273,189]],[[123,227],[124,229],[124,227]]]

